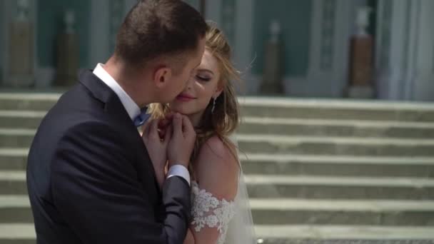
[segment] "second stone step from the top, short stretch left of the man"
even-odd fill
[[[34,128],[41,123],[45,111],[0,111],[0,128]]]

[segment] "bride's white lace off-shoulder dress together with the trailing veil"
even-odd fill
[[[231,138],[236,144],[236,140]],[[241,167],[241,166],[240,166]],[[234,200],[218,199],[212,193],[191,182],[192,217],[194,231],[217,228],[217,244],[256,244],[251,208],[242,169],[238,176],[238,190]],[[210,243],[211,244],[211,243]]]

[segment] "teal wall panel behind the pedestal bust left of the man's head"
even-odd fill
[[[89,68],[89,28],[91,1],[39,0],[37,5],[37,49],[39,66],[56,66],[56,38],[64,29],[64,11],[76,16],[75,30],[79,36],[80,67]]]

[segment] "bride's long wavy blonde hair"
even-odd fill
[[[239,124],[239,107],[233,81],[241,81],[240,73],[231,62],[231,46],[229,46],[226,37],[210,23],[208,23],[208,31],[206,31],[205,49],[218,61],[221,74],[218,86],[222,87],[223,91],[216,98],[214,110],[211,111],[213,107],[213,99],[211,99],[203,112],[201,122],[196,128],[196,145],[190,161],[191,163],[196,161],[201,147],[213,136],[218,136],[238,160],[236,146],[228,136],[238,128]],[[168,104],[153,103],[150,106],[150,111],[153,118],[163,118],[170,111],[170,108]],[[194,176],[191,164],[189,171],[192,173],[191,176]]]

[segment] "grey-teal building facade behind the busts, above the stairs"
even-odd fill
[[[19,2],[0,1],[1,86],[11,86],[12,25]],[[135,0],[28,0],[34,52],[34,88],[54,86],[59,32],[74,13],[77,68],[93,68],[111,55],[118,26]],[[349,84],[350,38],[357,11],[370,6],[373,98],[434,101],[434,1],[431,0],[188,0],[205,3],[206,19],[225,31],[243,72],[245,93],[261,93],[266,45],[275,26],[280,43],[279,96],[343,98]],[[274,23],[274,24],[273,24]],[[277,24],[276,24],[277,23]],[[276,27],[278,26],[278,27]]]

